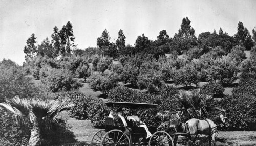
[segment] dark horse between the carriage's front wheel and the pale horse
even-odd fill
[[[159,130],[164,130],[167,133],[186,133],[186,128],[185,128],[185,124],[182,123],[179,120],[174,120],[174,121],[165,121],[163,124],[161,124],[160,126],[158,126]],[[174,137],[174,146],[176,146],[177,144],[177,139],[179,137],[178,134],[171,134],[172,138]]]

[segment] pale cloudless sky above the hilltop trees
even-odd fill
[[[123,30],[125,44],[134,45],[145,34],[156,40],[161,30],[170,37],[178,32],[182,19],[188,17],[196,36],[202,32],[224,32],[233,36],[238,22],[243,22],[250,34],[256,26],[256,1],[198,0],[0,0],[0,61],[11,59],[22,65],[24,46],[32,33],[37,44],[51,39],[53,28],[70,21],[75,44],[80,49],[96,47],[97,38],[107,29],[111,42]]]

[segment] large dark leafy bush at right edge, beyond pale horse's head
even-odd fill
[[[256,79],[241,79],[231,96],[221,102],[228,117],[228,130],[255,130]]]

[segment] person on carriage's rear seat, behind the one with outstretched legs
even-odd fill
[[[132,131],[132,129],[128,126],[129,121],[127,121],[124,116],[123,116],[123,110],[122,108],[118,108],[116,111],[117,115],[114,118],[114,123],[117,126],[120,127],[124,127],[125,128],[125,132],[127,135],[130,135],[130,131]]]

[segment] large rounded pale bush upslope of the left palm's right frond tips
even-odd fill
[[[41,81],[51,92],[70,91],[82,87],[82,84],[73,79],[71,71],[67,69],[49,69],[47,77],[42,78]]]

